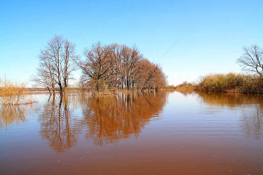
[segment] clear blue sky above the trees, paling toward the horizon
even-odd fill
[[[0,76],[29,82],[54,34],[132,46],[159,60],[169,84],[241,72],[242,46],[263,47],[263,1],[1,1]],[[85,39],[85,41],[80,37]],[[75,74],[78,78],[78,74]],[[29,82],[30,83],[30,82]]]

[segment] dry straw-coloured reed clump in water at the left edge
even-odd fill
[[[26,92],[26,83],[0,78],[0,103],[8,104],[31,104],[34,100]]]

